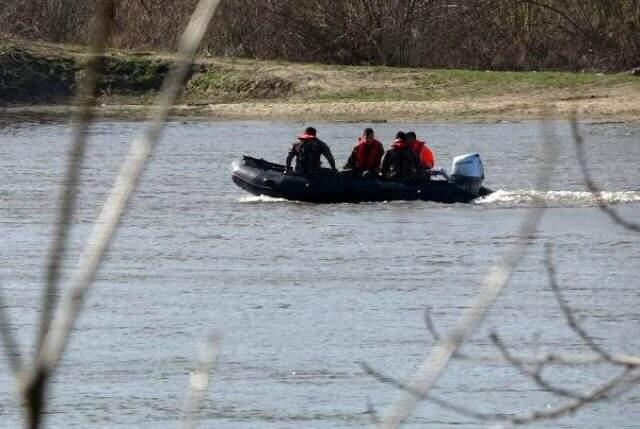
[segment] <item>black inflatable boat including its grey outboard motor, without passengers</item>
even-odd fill
[[[493,191],[482,186],[484,168],[480,155],[453,160],[452,173],[439,169],[430,178],[411,183],[380,178],[351,177],[323,169],[313,177],[285,173],[284,165],[244,156],[233,163],[233,182],[253,195],[266,195],[310,203],[358,203],[365,201],[424,200],[468,203]]]

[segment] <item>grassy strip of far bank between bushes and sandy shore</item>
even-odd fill
[[[7,52],[6,47],[0,48]],[[46,44],[10,48],[19,51],[3,57],[0,90],[4,88],[5,95],[11,92],[16,101],[27,103],[72,95],[75,72],[86,61],[86,50]],[[145,103],[160,88],[169,67],[166,55],[114,51],[105,60],[100,89],[105,96],[137,97],[140,103]],[[28,85],[25,84],[27,77]],[[201,58],[187,82],[184,100],[193,103],[276,99],[376,102],[481,99],[505,95],[525,98],[541,94],[567,97],[573,95],[572,92],[585,95],[591,90],[621,85],[633,91],[640,90],[640,78],[630,74],[429,70]],[[55,89],[53,95],[38,98],[37,94],[47,94],[49,87]],[[28,88],[38,91],[29,93]],[[19,94],[20,91],[25,93]]]

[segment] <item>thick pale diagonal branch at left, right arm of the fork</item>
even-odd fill
[[[180,41],[176,64],[165,79],[148,119],[144,135],[133,141],[115,184],[102,207],[87,245],[80,257],[69,294],[57,306],[51,327],[37,354],[33,371],[25,383],[25,391],[44,392],[47,380],[61,359],[71,331],[82,309],[86,293],[107,251],[120,222],[129,197],[138,182],[143,167],[155,146],[164,122],[187,76],[196,49],[204,36],[219,0],[201,0]],[[27,393],[29,394],[29,393]],[[44,397],[44,393],[40,394]],[[39,427],[42,407],[32,428]]]

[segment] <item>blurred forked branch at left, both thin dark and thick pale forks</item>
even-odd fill
[[[78,127],[74,133],[74,145],[71,154],[69,172],[64,182],[63,202],[52,251],[50,253],[47,282],[43,297],[43,311],[40,322],[40,332],[36,357],[32,368],[24,375],[21,389],[23,392],[27,412],[27,426],[38,428],[42,424],[45,408],[46,391],[50,376],[62,358],[75,322],[82,310],[82,305],[89,291],[96,272],[107,252],[109,243],[120,222],[126,203],[142,174],[144,165],[157,143],[164,122],[185,81],[190,64],[193,62],[196,49],[209,25],[219,0],[201,0],[187,26],[178,49],[176,63],[163,83],[151,108],[147,127],[142,137],[134,140],[129,155],[125,159],[113,188],[102,207],[91,235],[77,264],[71,280],[70,291],[64,295],[62,301],[56,305],[57,283],[60,263],[64,256],[69,225],[72,221],[75,194],[77,193],[79,170],[84,154],[84,146],[89,124],[93,120],[93,105],[95,104],[95,87],[99,71],[100,53],[104,50],[104,38],[107,33],[106,11],[110,2],[101,3],[98,8],[93,52],[89,62],[89,70],[85,83],[78,95],[81,113]],[[55,312],[52,313],[53,308]],[[12,347],[11,338],[5,335],[3,323],[2,337],[7,347]],[[12,366],[16,366],[13,362]]]

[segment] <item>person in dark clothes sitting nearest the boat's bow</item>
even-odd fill
[[[314,175],[320,172],[322,163],[320,156],[324,155],[329,161],[329,165],[334,171],[336,170],[336,162],[331,154],[331,149],[322,140],[316,137],[316,129],[307,127],[304,133],[299,135],[297,140],[291,144],[291,150],[287,155],[285,162],[286,172],[291,171],[291,161],[296,158],[296,166],[294,171],[302,175]]]

